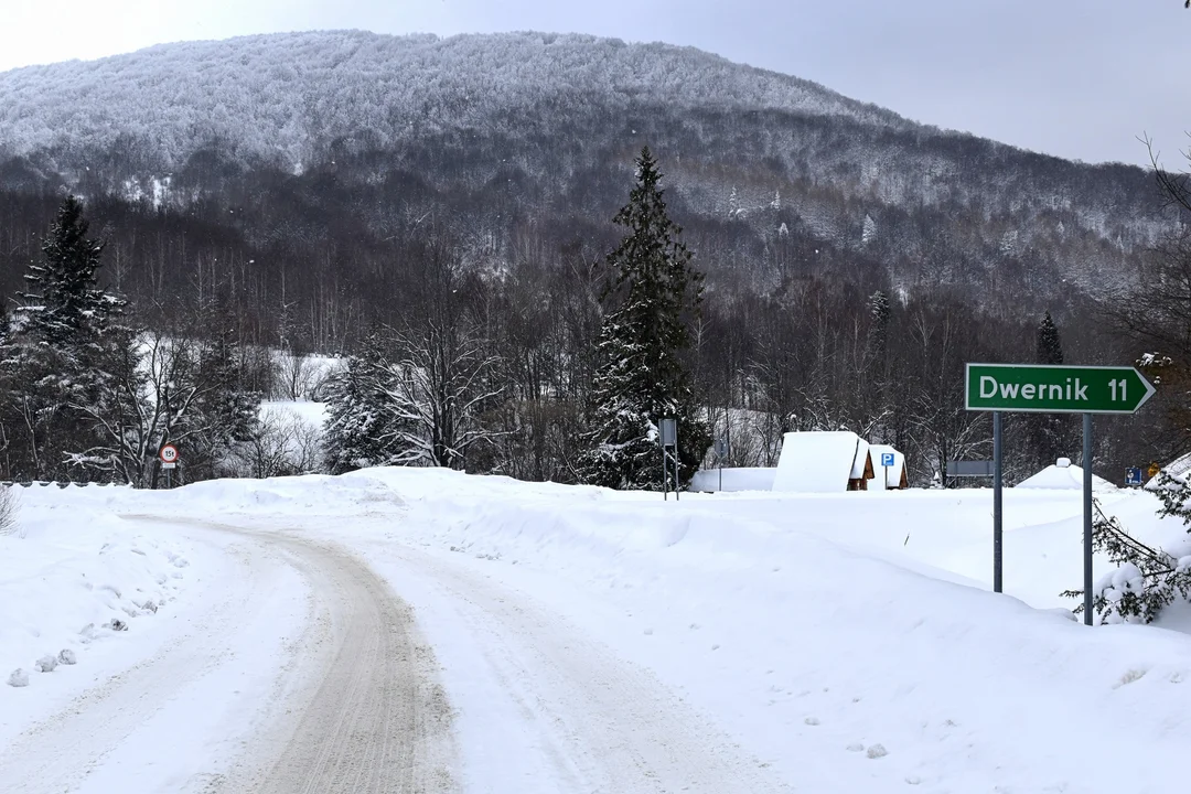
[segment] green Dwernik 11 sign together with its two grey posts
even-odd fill
[[[1000,414],[1081,413],[1084,415],[1084,623],[1092,625],[1092,414],[1134,413],[1154,395],[1153,385],[1133,367],[1061,364],[968,364],[968,411],[992,412],[992,589],[1002,592]]]

